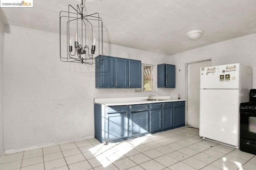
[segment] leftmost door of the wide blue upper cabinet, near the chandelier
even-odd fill
[[[114,58],[103,56],[102,63],[96,63],[96,88],[114,87]]]

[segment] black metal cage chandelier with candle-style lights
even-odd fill
[[[102,19],[98,13],[84,14],[84,8],[82,0],[80,6],[68,5],[68,11],[60,11],[60,60],[63,62],[92,65],[102,61]]]

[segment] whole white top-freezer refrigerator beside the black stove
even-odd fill
[[[249,66],[200,68],[200,137],[239,149],[239,106],[249,101],[251,87]]]

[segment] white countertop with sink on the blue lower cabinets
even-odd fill
[[[130,97],[130,98],[95,98],[94,103],[104,104],[105,106],[120,106],[133,104],[149,104],[162,102],[185,101],[186,99],[171,98],[171,96],[153,96],[151,99],[160,99],[159,101],[148,101],[146,97]]]

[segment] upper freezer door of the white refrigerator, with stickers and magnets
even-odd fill
[[[200,89],[238,89],[240,64],[200,68]]]

